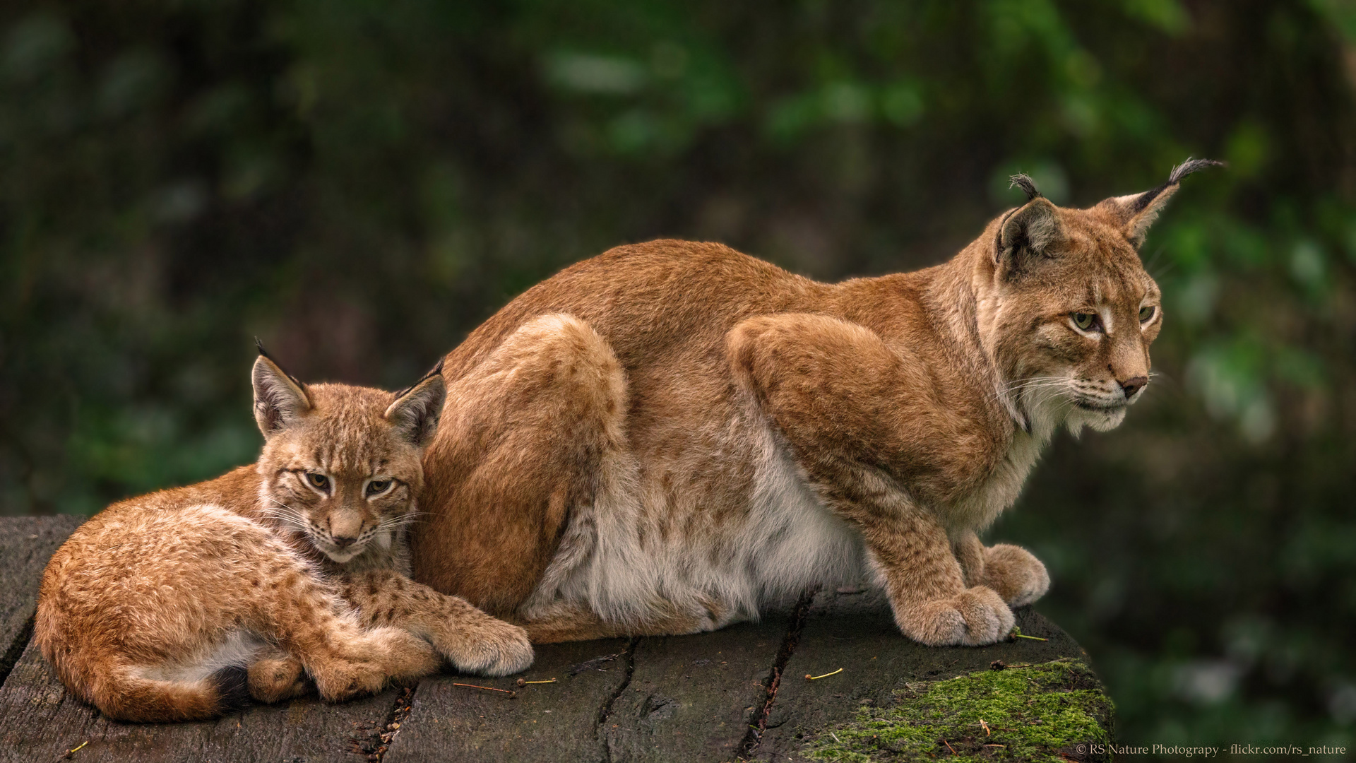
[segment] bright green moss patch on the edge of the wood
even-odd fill
[[[1111,741],[1111,699],[1077,660],[922,682],[894,694],[894,707],[862,707],[853,722],[808,734],[805,752],[861,763],[1064,762],[1104,759],[1093,751]]]

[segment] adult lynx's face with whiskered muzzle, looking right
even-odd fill
[[[1036,198],[1001,220],[995,242],[990,341],[1010,403],[1045,430],[1120,425],[1149,386],[1163,322],[1123,216]]]

